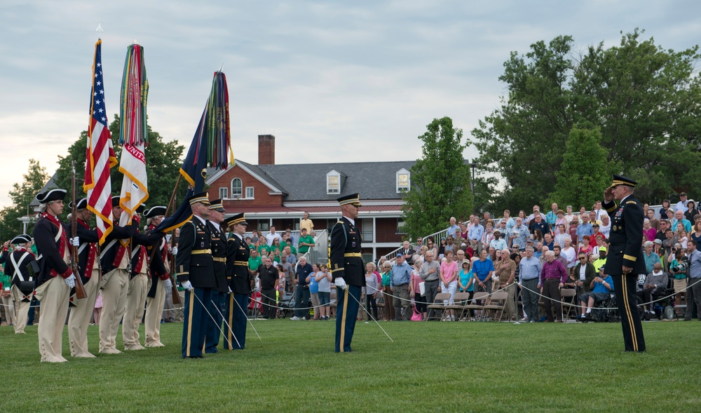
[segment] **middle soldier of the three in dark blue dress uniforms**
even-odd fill
[[[226,234],[219,224],[224,222],[224,205],[222,199],[215,199],[210,203],[210,219],[207,225],[210,229],[212,245],[212,261],[215,264],[215,276],[218,287],[212,290],[210,313],[212,318],[207,323],[205,334],[205,353],[219,353],[219,336],[222,335],[222,320],[224,317],[224,303],[226,294],[229,294],[229,284],[226,283]],[[228,329],[227,329],[228,330]]]

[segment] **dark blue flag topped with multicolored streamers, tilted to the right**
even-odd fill
[[[226,75],[223,72],[215,72],[210,97],[180,168],[180,175],[189,184],[187,193],[177,211],[163,219],[156,231],[168,232],[188,222],[192,217],[192,210],[187,198],[204,190],[207,166],[226,169],[229,168],[229,160],[233,161],[229,129],[229,89],[226,86]]]

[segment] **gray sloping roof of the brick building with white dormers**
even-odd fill
[[[416,161],[297,163],[290,165],[252,165],[236,159],[273,187],[285,193],[285,201],[334,201],[339,196],[360,194],[362,199],[401,199],[397,193],[397,172],[411,170]],[[326,174],[341,174],[341,193],[326,193]],[[208,170],[213,175],[215,170]]]

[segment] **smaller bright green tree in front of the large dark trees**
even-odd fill
[[[547,203],[584,205],[589,208],[601,200],[611,184],[608,151],[601,147],[599,128],[576,127],[567,139],[562,168],[555,172],[557,182]]]

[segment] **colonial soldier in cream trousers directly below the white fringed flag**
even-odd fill
[[[132,224],[119,226],[122,208],[119,196],[112,197],[112,230],[104,239],[100,252],[102,268],[102,316],[100,316],[100,353],[118,354],[116,337],[119,322],[124,316],[129,285],[129,255],[121,241],[127,243],[139,226],[139,217],[135,216]]]

